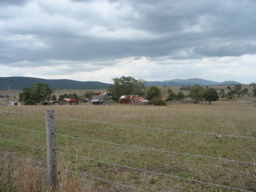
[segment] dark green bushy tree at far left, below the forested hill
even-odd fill
[[[49,100],[51,98],[52,90],[49,88],[48,84],[38,83],[32,84],[28,88],[24,88],[23,92],[20,93],[20,101],[25,102],[28,99],[36,103]]]

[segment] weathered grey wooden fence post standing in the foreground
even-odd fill
[[[54,110],[46,110],[46,141],[47,141],[47,183],[48,186],[57,185],[57,149]]]

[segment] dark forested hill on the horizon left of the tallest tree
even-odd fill
[[[0,77],[0,90],[11,86],[11,89],[22,90],[35,83],[46,83],[51,89],[105,89],[110,84],[98,81],[74,81],[69,79],[40,79],[33,77]]]

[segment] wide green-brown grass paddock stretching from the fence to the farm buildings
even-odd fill
[[[256,137],[256,107],[253,102],[244,99],[235,99],[232,101],[224,99],[213,103],[212,106],[180,103],[163,107],[131,105],[53,107],[0,106],[0,110],[3,111],[41,115],[44,115],[47,109],[54,109],[55,116],[75,119]],[[213,135],[207,134],[124,127],[121,125],[107,125],[66,119],[55,119],[55,123],[58,134],[144,148],[200,154],[208,157],[256,163],[255,139],[239,137],[221,137],[220,139],[216,139]],[[0,124],[45,131],[45,119],[43,116],[0,112]],[[42,147],[45,147],[46,143],[44,133],[4,126],[0,126],[0,138]],[[38,148],[23,146],[3,140],[0,141],[0,147],[1,151],[9,151],[22,157],[29,157],[30,159],[46,162],[46,151],[38,150]],[[57,136],[57,148],[58,151],[77,154],[94,160],[236,187],[248,191],[256,191],[256,168],[249,164],[150,151],[62,136]],[[17,170],[23,170],[23,167],[29,167],[29,165],[32,166],[32,162],[23,164],[15,158],[6,157],[4,155],[2,155],[1,158],[1,161],[4,162],[6,162],[4,158],[9,158],[8,162],[10,163],[16,162],[16,165],[20,165]],[[60,152],[58,152],[58,163],[59,186],[64,186],[65,184],[61,167],[64,167],[64,169],[68,167],[70,170],[76,170],[77,173],[93,175],[105,180],[152,192],[232,191],[231,189],[197,183],[195,181],[155,175],[146,171],[142,172],[92,160],[85,160],[80,157],[61,154]],[[4,163],[2,163],[2,167],[4,167],[3,164]],[[12,166],[9,165],[7,167]],[[2,169],[7,170],[6,168]],[[13,169],[15,168],[12,168],[11,171],[13,171]],[[33,165],[30,169],[37,170],[37,167]],[[36,191],[44,191],[46,189],[44,185],[45,177],[41,175],[45,175],[45,171],[42,169],[40,173],[36,173],[37,172],[30,176],[36,177],[35,175],[38,175],[37,177],[40,177],[38,181],[35,182],[37,184],[39,183]],[[30,173],[27,173],[27,175],[29,174]],[[15,182],[15,176],[12,174],[6,175],[6,181],[3,182],[3,179],[0,181],[0,186],[2,184],[3,191],[7,191],[12,185],[14,185],[16,190],[21,189],[19,183]],[[65,178],[67,183],[74,183],[74,188],[66,188],[66,191],[135,191],[108,182],[84,178],[77,174],[71,174],[70,179]],[[8,182],[12,184],[7,185]],[[24,183],[22,185],[24,186]],[[64,188],[60,187],[59,189]]]

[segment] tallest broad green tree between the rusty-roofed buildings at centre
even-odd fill
[[[118,101],[122,95],[143,96],[145,91],[145,81],[143,79],[134,79],[133,77],[124,77],[111,79],[114,84],[107,91],[112,99]]]

